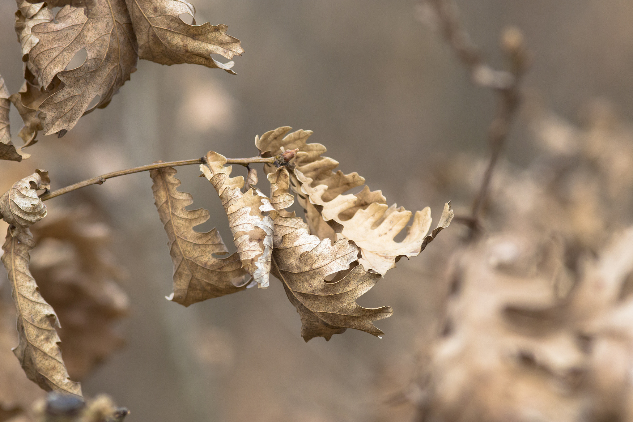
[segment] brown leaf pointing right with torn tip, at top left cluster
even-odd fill
[[[229,73],[234,63],[220,63],[211,54],[227,59],[240,56],[244,49],[239,39],[227,35],[227,25],[204,23],[189,25],[179,15],[196,16],[196,9],[186,1],[125,0],[139,45],[139,58],[161,65],[194,63],[220,68]]]

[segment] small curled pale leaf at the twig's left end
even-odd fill
[[[37,189],[48,189],[51,180],[48,171],[35,173],[13,183],[0,197],[0,215],[11,225],[11,232],[25,230],[46,216],[46,205],[37,197]]]

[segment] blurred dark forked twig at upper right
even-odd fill
[[[494,70],[484,60],[459,17],[459,9],[454,0],[425,0],[422,3],[423,18],[430,18],[439,27],[444,38],[470,73],[473,83],[494,90],[498,96],[497,110],[489,129],[490,160],[484,173],[479,191],[473,201],[470,218],[456,218],[471,229],[479,232],[480,214],[489,195],[492,175],[505,146],[510,126],[520,104],[520,82],[529,61],[529,54],[523,46],[523,37],[517,28],[508,28],[501,36],[503,50],[510,61],[510,71]]]

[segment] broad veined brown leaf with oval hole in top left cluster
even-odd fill
[[[85,113],[107,106],[135,70],[135,37],[125,0],[98,1],[91,13],[84,11],[64,6],[56,15],[57,22],[31,29],[39,39],[29,53],[37,66],[39,85],[49,87],[56,76],[65,84],[40,105],[46,113],[47,135],[70,130]],[[87,52],[84,63],[64,70],[81,49]],[[99,102],[88,110],[96,96]]]

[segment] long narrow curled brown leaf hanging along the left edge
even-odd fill
[[[12,234],[13,233],[13,234]],[[29,380],[47,391],[81,395],[79,383],[68,378],[55,326],[60,323],[49,304],[42,299],[35,279],[28,270],[35,242],[28,230],[7,230],[2,261],[9,276],[13,301],[18,313],[18,346],[13,350]]]

